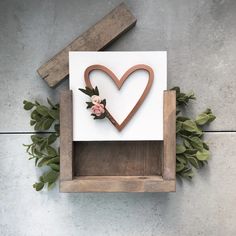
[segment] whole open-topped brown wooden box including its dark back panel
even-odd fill
[[[164,141],[73,141],[72,92],[60,95],[61,192],[174,192],[175,91],[164,91]]]

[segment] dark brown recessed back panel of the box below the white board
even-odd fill
[[[161,175],[162,141],[74,142],[75,176]]]

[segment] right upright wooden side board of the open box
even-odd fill
[[[164,91],[163,178],[175,180],[176,173],[176,92]]]

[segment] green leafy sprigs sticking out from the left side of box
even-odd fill
[[[60,156],[59,148],[56,148],[56,140],[60,136],[59,127],[59,104],[53,104],[48,99],[49,107],[41,105],[39,102],[34,103],[24,101],[24,109],[32,110],[30,125],[34,126],[35,131],[40,131],[31,136],[31,144],[24,144],[29,154],[29,160],[35,160],[35,166],[47,167],[46,172],[39,178],[33,187],[36,191],[43,189],[45,185],[50,189],[54,186],[59,176]],[[53,128],[50,133],[42,133]]]

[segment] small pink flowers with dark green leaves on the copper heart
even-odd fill
[[[79,88],[79,90],[90,97],[91,101],[86,102],[86,104],[87,109],[91,109],[91,116],[94,119],[104,119],[107,117],[106,99],[101,99],[97,86],[95,89],[85,87],[85,89]]]

